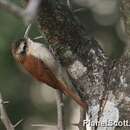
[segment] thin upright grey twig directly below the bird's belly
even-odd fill
[[[59,90],[57,90],[56,101],[57,101],[57,127],[58,130],[65,130],[63,95]]]

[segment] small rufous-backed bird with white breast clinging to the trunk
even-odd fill
[[[45,44],[24,37],[13,42],[11,50],[16,62],[21,64],[32,77],[70,96],[77,104],[86,109],[86,102],[82,101],[68,86],[69,83],[64,81],[61,65]]]

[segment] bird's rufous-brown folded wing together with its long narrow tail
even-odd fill
[[[72,97],[72,99],[75,100],[80,106],[86,108],[86,103],[81,101],[81,99],[77,95],[75,95],[75,93],[69,87],[59,81],[55,74],[40,59],[37,59],[30,55],[26,57],[24,67],[37,80],[46,83],[47,85],[55,89],[60,90],[64,94]]]

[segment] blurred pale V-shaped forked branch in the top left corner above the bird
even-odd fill
[[[41,0],[30,0],[26,9],[23,9],[7,0],[0,0],[0,8],[22,18],[25,24],[29,24],[36,17],[40,3]]]

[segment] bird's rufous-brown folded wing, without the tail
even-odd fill
[[[29,55],[26,57],[23,65],[34,78],[58,89],[55,86],[57,82],[56,76],[43,61]]]

